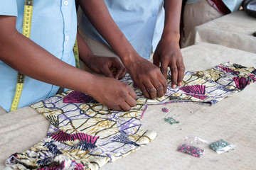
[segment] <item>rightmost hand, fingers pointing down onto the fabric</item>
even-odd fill
[[[176,85],[182,86],[185,67],[178,42],[162,38],[156,47],[153,60],[157,67],[161,63],[161,72],[165,78],[167,78],[168,67],[170,67],[172,88],[176,88]]]

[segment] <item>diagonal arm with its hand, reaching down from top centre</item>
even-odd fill
[[[122,60],[130,76],[146,98],[164,96],[167,81],[158,67],[140,57],[129,41],[114,23],[103,0],[80,0],[82,11],[92,22],[93,26],[112,47]]]

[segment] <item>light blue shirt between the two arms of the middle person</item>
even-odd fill
[[[149,59],[164,29],[164,0],[105,0],[105,4],[134,49],[140,56]],[[85,14],[80,29],[90,38],[105,42]]]

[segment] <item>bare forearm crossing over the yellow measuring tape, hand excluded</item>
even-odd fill
[[[84,93],[90,92],[94,77],[92,74],[62,62],[18,33],[15,29],[16,19],[1,17],[0,23],[3,24],[0,28],[1,61],[33,79]]]

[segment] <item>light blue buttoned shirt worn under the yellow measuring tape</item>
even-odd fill
[[[16,28],[22,33],[24,0],[0,0],[0,15],[16,16]],[[74,0],[34,1],[31,40],[58,59],[75,66],[73,45],[77,31]],[[43,58],[42,58],[43,60]],[[0,61],[0,106],[6,111],[16,91],[17,72]],[[18,108],[53,96],[58,86],[25,77]]]

